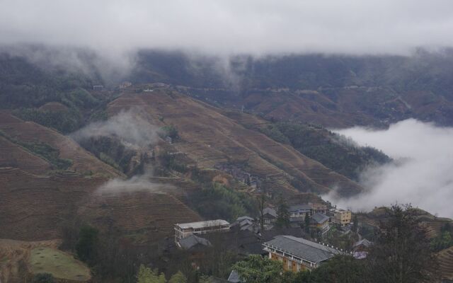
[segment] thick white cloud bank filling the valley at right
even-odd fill
[[[328,195],[328,200],[355,210],[411,203],[453,217],[453,128],[410,119],[386,130],[354,127],[337,132],[384,151],[394,162],[362,173],[360,183],[367,187],[362,195],[348,200]]]

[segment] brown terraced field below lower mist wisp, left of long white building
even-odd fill
[[[176,197],[146,191],[93,195],[78,213],[98,227],[115,227],[125,234],[146,233],[149,241],[173,236],[174,224],[201,220]]]

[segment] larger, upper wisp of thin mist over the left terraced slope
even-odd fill
[[[107,121],[93,122],[70,136],[76,141],[91,137],[113,137],[120,139],[127,148],[144,149],[156,144],[159,127],[151,125],[142,115],[147,114],[138,109],[120,112]]]

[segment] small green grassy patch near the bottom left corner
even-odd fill
[[[72,255],[55,248],[34,248],[30,254],[30,266],[34,274],[51,273],[55,278],[88,281],[90,270]]]

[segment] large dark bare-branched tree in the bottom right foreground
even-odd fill
[[[410,204],[393,205],[369,251],[372,282],[437,282],[437,260]]]

